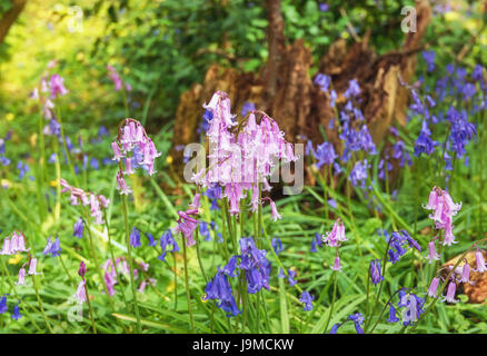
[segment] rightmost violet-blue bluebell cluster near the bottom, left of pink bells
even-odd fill
[[[414,293],[407,291],[406,288],[399,289],[397,296],[399,297],[399,301],[396,306],[389,301],[389,317],[387,318],[387,323],[402,322],[404,326],[414,325],[420,315],[425,313],[425,298],[420,298]]]

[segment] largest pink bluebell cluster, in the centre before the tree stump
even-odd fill
[[[279,159],[295,161],[294,146],[285,139],[285,132],[277,122],[265,112],[250,110],[246,119],[238,125],[230,112],[230,99],[227,93],[217,91],[203,108],[211,112],[208,130],[209,168],[193,174],[192,180],[203,187],[221,187],[219,196],[227,198],[231,215],[240,212],[240,201],[249,194],[251,211],[262,204],[259,198],[259,184],[264,190],[271,187],[267,178]],[[257,116],[260,115],[260,123]],[[275,202],[267,198],[272,208],[274,219],[280,218]]]

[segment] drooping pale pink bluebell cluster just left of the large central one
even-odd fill
[[[135,169],[141,167],[149,176],[156,170],[153,160],[161,154],[157,151],[152,140],[146,134],[142,125],[133,119],[126,119],[119,128],[117,140],[111,142],[113,160],[119,162],[120,169],[117,174],[117,189],[122,195],[131,194],[127,186],[125,175],[129,176]],[[122,160],[125,160],[125,171]]]

